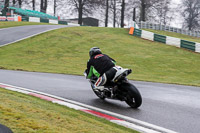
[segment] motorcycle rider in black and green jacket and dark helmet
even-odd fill
[[[94,84],[94,89],[100,89],[107,81],[114,81],[120,74],[128,69],[116,67],[116,61],[106,54],[102,54],[98,47],[93,47],[89,51],[90,59],[87,62],[86,74],[91,79],[95,75],[98,79]]]

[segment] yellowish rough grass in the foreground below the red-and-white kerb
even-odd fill
[[[105,119],[0,88],[0,123],[14,133],[136,133]]]

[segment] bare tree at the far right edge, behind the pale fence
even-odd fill
[[[189,30],[200,26],[200,0],[182,0],[185,25]]]

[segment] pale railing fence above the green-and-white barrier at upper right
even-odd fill
[[[137,24],[141,29],[163,30],[163,31],[176,32],[176,33],[180,33],[184,35],[189,35],[193,37],[200,37],[200,31],[189,31],[189,30],[184,30],[184,29],[175,28],[171,26],[153,24],[153,23],[142,22],[142,21]]]

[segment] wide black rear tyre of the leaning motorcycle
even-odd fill
[[[131,107],[131,108],[138,108],[142,104],[142,97],[140,95],[140,92],[138,89],[130,84],[130,83],[124,83],[122,85],[123,89],[127,91],[126,94],[126,100],[125,102]]]

